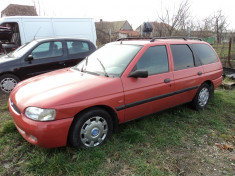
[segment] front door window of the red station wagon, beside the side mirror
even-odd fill
[[[134,70],[147,70],[149,75],[168,72],[169,66],[166,47],[153,46],[147,49],[137,62]]]

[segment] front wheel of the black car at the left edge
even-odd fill
[[[0,91],[1,93],[11,93],[20,79],[13,74],[5,74],[0,76]]]

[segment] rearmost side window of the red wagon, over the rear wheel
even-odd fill
[[[215,52],[210,46],[206,44],[192,44],[190,46],[192,47],[194,54],[200,59],[203,65],[218,61]]]

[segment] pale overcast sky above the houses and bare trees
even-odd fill
[[[135,30],[142,22],[155,21],[161,7],[177,8],[182,0],[0,0],[0,11],[9,4],[38,5],[46,16],[54,17],[91,17],[95,21],[128,20]],[[235,30],[235,0],[189,0],[191,15],[195,21],[222,10],[229,23],[228,28]],[[42,10],[41,10],[42,13]],[[43,13],[42,13],[43,14]]]

